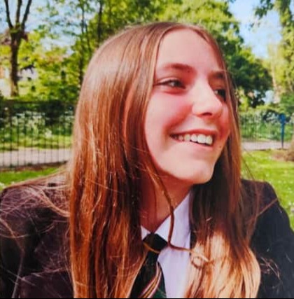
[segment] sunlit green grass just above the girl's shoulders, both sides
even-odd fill
[[[281,200],[281,204],[288,212],[294,228],[294,162],[282,162],[272,158],[273,151],[255,151],[244,153],[244,160],[258,181],[268,181],[272,184]],[[0,190],[10,183],[32,179],[37,176],[52,174],[56,168],[46,168],[40,171],[27,170],[22,172],[1,172]],[[245,167],[242,172],[248,178]]]

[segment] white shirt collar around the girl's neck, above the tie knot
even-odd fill
[[[174,210],[174,230],[172,232],[171,243],[174,246],[184,247],[186,239],[190,233],[190,221],[189,221],[189,203],[192,192],[188,193],[183,199],[181,204]],[[169,216],[155,231],[156,234],[160,235],[167,241],[169,237],[169,227],[171,225],[171,216]],[[150,234],[146,228],[141,226],[142,239],[146,235]]]

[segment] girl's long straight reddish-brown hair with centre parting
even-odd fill
[[[160,42],[167,32],[184,28],[214,48],[226,71],[231,119],[231,134],[212,179],[193,190],[190,221],[195,242],[186,297],[257,295],[260,267],[249,247],[253,225],[247,227],[241,195],[237,100],[221,50],[201,27],[160,22],[127,29],[106,41],[85,75],[68,164],[76,298],[130,295],[146,254],[138,211],[142,174],[148,174],[171,203],[148,153],[144,120]]]

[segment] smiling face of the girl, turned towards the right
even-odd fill
[[[221,64],[191,29],[162,40],[145,123],[146,141],[162,179],[206,183],[230,134]]]

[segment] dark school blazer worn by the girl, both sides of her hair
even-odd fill
[[[256,197],[255,185],[242,181],[248,202]],[[261,209],[272,203],[259,216],[251,240],[262,269],[258,298],[293,298],[294,233],[273,188],[268,183],[256,186],[262,195]],[[69,249],[68,223],[40,200],[42,192],[53,202],[58,200],[54,186],[40,189],[40,193],[32,190],[24,194],[20,188],[9,188],[0,196],[0,218],[17,233],[11,239],[5,223],[0,223],[0,298],[72,298],[64,258]],[[267,266],[265,260],[269,261]]]

